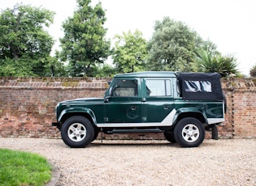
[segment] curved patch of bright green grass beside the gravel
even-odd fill
[[[18,150],[0,149],[0,185],[45,185],[50,181],[51,167],[38,155]]]

